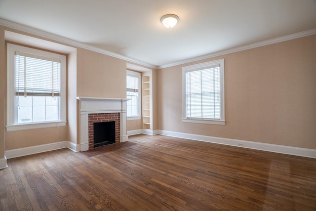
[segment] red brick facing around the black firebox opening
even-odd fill
[[[115,143],[119,143],[119,136],[120,136],[119,113],[89,114],[88,116],[89,149],[93,149],[93,123],[103,123],[103,122],[112,122],[112,121],[115,121]]]

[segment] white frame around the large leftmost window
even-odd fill
[[[17,108],[15,98],[15,51],[33,54],[38,57],[54,58],[61,61],[60,67],[60,104],[59,104],[59,121],[43,122],[43,123],[17,123],[16,115]],[[66,126],[66,56],[47,52],[30,47],[20,46],[16,44],[7,43],[7,131],[38,129],[46,127],[60,127]]]

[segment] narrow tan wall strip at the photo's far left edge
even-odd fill
[[[5,68],[4,68],[4,27],[0,26],[0,159],[4,158],[4,96],[5,96]]]

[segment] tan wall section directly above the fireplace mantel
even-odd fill
[[[126,98],[126,61],[78,48],[77,94]]]

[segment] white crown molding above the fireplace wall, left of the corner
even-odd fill
[[[19,31],[22,31],[22,32],[30,33],[30,34],[33,34],[33,35],[37,35],[37,36],[40,36],[40,37],[43,37],[43,38],[46,38],[46,39],[50,39],[50,40],[53,40],[53,41],[63,42],[65,44],[73,45],[75,47],[80,47],[80,48],[91,50],[91,51],[94,51],[94,52],[97,52],[97,53],[101,53],[101,54],[104,54],[104,55],[112,56],[112,57],[115,57],[115,58],[118,58],[118,59],[125,60],[127,62],[132,62],[132,63],[138,64],[138,65],[142,65],[142,66],[145,66],[145,67],[149,67],[149,68],[153,68],[153,69],[157,69],[158,68],[158,66],[155,66],[155,65],[152,65],[152,64],[148,64],[146,62],[142,62],[142,61],[139,61],[139,60],[136,60],[136,59],[132,59],[132,58],[129,58],[127,56],[123,56],[123,55],[120,55],[120,54],[117,54],[117,53],[114,53],[114,52],[111,52],[111,51],[108,51],[108,50],[104,50],[104,49],[101,49],[101,48],[98,48],[98,47],[94,47],[94,46],[89,45],[89,44],[85,44],[85,43],[82,43],[82,42],[77,42],[77,41],[74,41],[74,40],[71,40],[71,39],[68,39],[68,38],[64,38],[64,37],[61,37],[61,36],[58,36],[58,35],[54,35],[54,34],[51,34],[51,33],[48,33],[48,32],[44,32],[44,31],[41,31],[41,30],[38,30],[38,29],[34,29],[34,28],[31,28],[31,27],[28,27],[28,26],[24,26],[24,25],[21,25],[21,24],[13,23],[13,22],[8,21],[8,20],[0,19],[0,25],[2,25],[4,27],[11,28],[11,29],[19,30]]]

